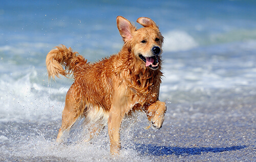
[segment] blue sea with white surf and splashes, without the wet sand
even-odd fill
[[[165,37],[161,100],[182,105],[211,96],[218,102],[223,91],[227,98],[234,93],[256,94],[255,1],[2,1],[0,159],[111,160],[104,133],[103,140],[93,144],[55,146],[72,79],[48,82],[45,58],[59,44],[72,47],[89,61],[117,53],[123,44],[116,27],[118,15],[138,28],[136,20],[142,16],[159,25]],[[130,149],[122,150],[120,161],[159,158],[138,154],[131,147],[133,136],[147,126],[145,121],[142,116],[133,124],[137,128],[122,137]],[[165,123],[161,131],[175,121],[166,118]],[[83,152],[88,154],[78,156]]]

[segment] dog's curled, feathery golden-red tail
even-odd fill
[[[59,74],[67,77],[67,75],[77,72],[79,65],[87,63],[83,56],[79,55],[78,52],[73,52],[71,48],[67,49],[65,45],[55,48],[46,56],[49,79],[51,77],[55,79],[55,76],[60,78]]]

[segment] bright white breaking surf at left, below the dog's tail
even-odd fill
[[[37,77],[36,70],[27,70],[26,75],[17,79],[13,76],[3,75],[0,81],[0,121],[26,121],[61,118],[61,105],[59,101],[51,102],[50,88],[31,81]],[[4,77],[4,78],[3,78]],[[47,79],[47,78],[46,78]],[[47,84],[47,80],[42,80]],[[64,96],[66,88],[57,89],[57,94]]]

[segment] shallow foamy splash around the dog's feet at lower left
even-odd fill
[[[138,116],[137,116],[138,117]],[[36,118],[36,117],[34,117]],[[143,117],[137,119],[143,120]],[[144,118],[145,119],[145,118]],[[136,150],[137,142],[134,131],[138,131],[139,124],[125,120],[121,131],[122,143],[125,148],[120,155],[110,155],[109,136],[107,129],[89,142],[84,142],[86,131],[81,129],[79,121],[71,129],[67,140],[63,144],[55,142],[60,120],[36,121],[36,119],[20,122],[2,122],[8,127],[3,127],[6,135],[0,136],[1,159],[6,161],[151,161],[147,156]],[[8,129],[8,131],[7,131]],[[148,132],[152,135],[154,132]],[[145,141],[144,141],[145,142]],[[139,142],[141,143],[141,142]]]

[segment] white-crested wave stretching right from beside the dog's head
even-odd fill
[[[193,36],[191,36],[193,34]],[[230,29],[223,32],[187,33],[181,30],[172,30],[163,34],[164,52],[188,51],[195,48],[214,47],[216,44],[230,44],[240,42],[244,44],[256,41],[256,29]],[[251,47],[250,47],[251,48]]]

